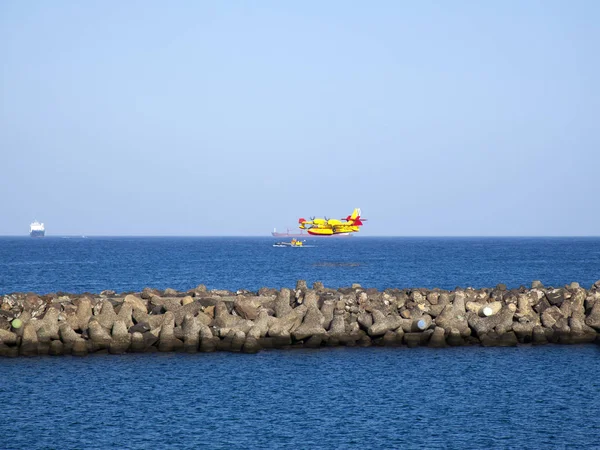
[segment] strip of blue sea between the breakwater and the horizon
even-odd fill
[[[293,287],[547,286],[600,279],[600,238],[317,238],[276,248],[275,238],[0,237],[0,294]]]

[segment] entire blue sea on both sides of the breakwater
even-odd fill
[[[600,279],[600,238],[277,240],[0,237],[0,295]],[[2,358],[0,448],[600,448],[599,374],[594,344]]]

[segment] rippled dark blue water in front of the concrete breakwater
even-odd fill
[[[0,360],[3,448],[597,448],[600,349]]]

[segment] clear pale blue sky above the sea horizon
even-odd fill
[[[0,235],[600,235],[600,2],[0,2]]]

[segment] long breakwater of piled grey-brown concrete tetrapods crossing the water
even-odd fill
[[[325,346],[514,346],[598,342],[589,289],[295,289],[14,293],[0,297],[0,356],[108,352],[256,353]]]

